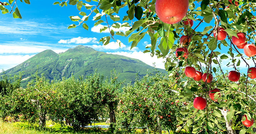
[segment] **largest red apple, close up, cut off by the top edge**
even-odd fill
[[[174,24],[181,21],[187,14],[188,5],[188,0],[156,0],[155,10],[161,21]],[[179,6],[179,10],[177,10],[177,6]]]

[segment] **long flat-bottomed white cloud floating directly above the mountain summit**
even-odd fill
[[[70,44],[70,43],[75,43],[75,44],[86,44],[86,43],[96,43],[99,44],[97,38],[83,38],[83,37],[77,37],[77,38],[72,38],[68,40],[60,40],[58,43],[62,44]]]

